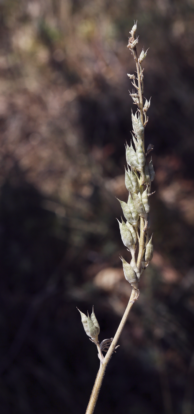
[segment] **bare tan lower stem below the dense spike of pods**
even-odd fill
[[[95,405],[96,405],[96,402],[97,402],[97,398],[98,398],[98,395],[99,395],[99,390],[101,388],[102,380],[103,380],[104,373],[105,373],[105,370],[106,370],[106,366],[107,366],[107,364],[109,363],[109,361],[111,359],[112,353],[114,352],[114,349],[116,347],[118,339],[119,339],[119,337],[121,335],[121,332],[122,332],[122,330],[125,326],[125,323],[127,321],[130,310],[133,306],[133,303],[137,300],[138,296],[139,296],[138,290],[137,289],[132,289],[131,296],[130,296],[130,299],[129,299],[129,302],[128,302],[128,306],[125,309],[125,313],[123,315],[123,318],[121,319],[120,325],[119,325],[119,327],[116,331],[116,334],[115,334],[114,339],[111,343],[111,346],[109,347],[109,350],[108,350],[103,362],[100,363],[100,368],[99,368],[99,371],[97,373],[95,384],[94,384],[92,394],[91,394],[91,397],[90,397],[90,401],[88,403],[88,407],[87,407],[87,410],[86,410],[85,414],[92,414],[94,412]]]

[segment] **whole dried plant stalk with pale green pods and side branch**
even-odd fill
[[[139,296],[138,283],[142,273],[153,257],[152,236],[149,238],[149,196],[151,195],[151,182],[154,180],[155,173],[152,160],[149,162],[149,165],[147,165],[146,162],[146,156],[153,149],[153,145],[149,144],[147,153],[145,153],[144,144],[144,129],[148,122],[147,110],[150,107],[150,100],[148,102],[147,99],[145,99],[145,102],[143,102],[144,69],[142,69],[142,62],[147,55],[147,51],[144,52],[144,50],[142,50],[140,57],[138,58],[136,50],[138,37],[136,37],[136,39],[134,38],[136,29],[137,22],[130,31],[131,37],[127,46],[131,50],[137,69],[137,77],[128,74],[128,77],[132,79],[132,85],[135,88],[132,93],[130,93],[130,96],[137,105],[137,112],[135,115],[132,113],[133,131],[130,147],[126,144],[128,171],[125,169],[125,186],[129,191],[129,198],[127,203],[119,200],[126,223],[122,218],[121,222],[118,221],[122,241],[132,256],[130,263],[126,262],[125,259],[121,257],[124,276],[132,285],[132,293],[114,338],[104,339],[101,344],[99,344],[98,341],[99,324],[95,317],[94,310],[92,311],[91,317],[80,312],[85,332],[92,342],[95,342],[97,345],[98,356],[100,359],[100,368],[97,373],[86,414],[92,414],[94,412],[106,366],[111,359],[112,353],[116,349],[116,344],[123,327],[125,326],[132,305]],[[138,82],[137,84],[136,80]],[[139,244],[139,250],[136,260],[135,250],[137,243]],[[103,351],[107,352],[105,357],[102,354]]]

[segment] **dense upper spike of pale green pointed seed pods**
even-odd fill
[[[145,99],[145,102],[143,102],[144,75],[141,64],[147,56],[148,49],[146,52],[144,52],[143,49],[138,58],[136,50],[138,38],[134,38],[136,29],[137,22],[130,31],[131,37],[128,43],[128,48],[131,50],[135,63],[138,66],[137,78],[135,75],[128,74],[128,77],[131,79],[132,85],[135,88],[132,90],[132,93],[130,93],[130,96],[132,97],[133,102],[137,105],[137,112],[135,115],[133,113],[131,114],[132,140],[130,145],[126,143],[125,146],[126,161],[128,164],[128,169],[125,169],[125,187],[129,192],[129,197],[127,203],[118,200],[121,203],[123,216],[126,219],[126,223],[123,221],[122,217],[121,222],[118,221],[121,239],[132,255],[130,264],[122,257],[121,260],[123,262],[125,279],[132,284],[134,289],[137,288],[144,268],[149,264],[153,257],[152,236],[149,239],[148,231],[150,226],[149,195],[151,182],[154,180],[155,176],[152,159],[149,161],[149,164],[147,164],[146,161],[146,155],[153,149],[153,145],[149,144],[147,154],[145,154],[144,149],[144,130],[148,121],[147,111],[150,107],[151,98],[149,101]],[[136,79],[138,80],[138,85],[136,84]],[[138,249],[139,253],[136,261],[135,250],[137,242],[141,245]]]

